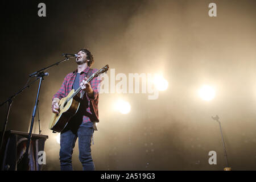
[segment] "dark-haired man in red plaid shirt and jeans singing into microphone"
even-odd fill
[[[79,160],[84,170],[95,170],[92,154],[91,142],[94,130],[97,130],[98,119],[98,87],[100,78],[93,78],[86,83],[92,73],[97,69],[90,69],[94,63],[93,55],[88,49],[81,49],[77,53],[77,69],[64,78],[59,91],[52,99],[52,112],[59,113],[59,101],[66,97],[72,89],[81,86],[84,91],[82,101],[77,114],[68,122],[68,125],[60,133],[60,169],[73,170],[72,154],[76,139],[79,138]]]

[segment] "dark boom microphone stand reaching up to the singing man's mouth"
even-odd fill
[[[28,163],[29,163],[29,161],[28,161],[28,150],[30,148],[31,134],[32,134],[33,125],[34,125],[34,119],[35,119],[35,115],[36,115],[36,106],[38,106],[39,92],[40,92],[40,88],[41,88],[41,85],[42,85],[42,81],[44,80],[43,77],[44,76],[48,76],[48,74],[44,73],[44,71],[46,71],[46,69],[48,69],[48,68],[53,67],[54,65],[58,65],[59,63],[63,63],[64,61],[67,61],[67,60],[69,60],[69,57],[65,56],[64,60],[61,60],[61,61],[59,61],[59,62],[57,62],[55,64],[52,64],[52,65],[49,65],[48,67],[40,69],[39,71],[36,71],[36,72],[34,72],[34,73],[29,75],[30,77],[37,76],[38,79],[40,78],[40,81],[39,81],[39,86],[38,86],[38,93],[36,94],[35,106],[34,106],[34,110],[33,110],[33,113],[32,113],[32,119],[31,119],[31,124],[30,124],[30,131],[28,133],[26,152],[24,153],[23,158],[22,158],[22,160],[20,162],[20,167],[21,167],[21,169],[23,171],[29,170],[29,166],[28,166]]]

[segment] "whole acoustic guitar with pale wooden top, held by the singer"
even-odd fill
[[[105,65],[105,67],[101,68],[96,73],[93,73],[86,82],[90,82],[94,77],[99,76],[102,73],[108,71],[109,65]],[[81,86],[74,90],[72,89],[67,97],[61,98],[59,101],[59,114],[53,113],[52,119],[49,122],[49,129],[53,130],[53,133],[61,132],[65,126],[67,126],[69,120],[77,113],[79,110],[80,102],[81,102]]]

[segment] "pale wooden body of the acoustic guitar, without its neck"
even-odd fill
[[[61,132],[65,126],[67,126],[68,121],[77,113],[80,106],[80,93],[77,93],[76,96],[71,98],[68,101],[68,98],[75,92],[74,89],[68,93],[67,97],[61,98],[59,102],[60,111],[59,114],[52,113],[51,122],[49,122],[49,129]]]

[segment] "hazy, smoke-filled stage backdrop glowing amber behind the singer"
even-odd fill
[[[38,4],[46,3],[46,17]],[[208,16],[210,2],[217,17]],[[168,80],[157,100],[148,94],[100,95],[99,131],[92,155],[97,170],[223,170],[218,114],[230,167],[256,169],[255,1],[1,1],[1,102],[22,88],[28,75],[89,48],[93,68],[109,64],[117,73],[161,72]],[[46,141],[44,170],[59,170],[57,134],[48,129],[51,99],[74,60],[47,72],[39,114]],[[110,76],[110,73],[108,73]],[[216,85],[210,102],[197,97]],[[28,132],[38,82],[16,96],[7,130]],[[130,102],[117,113],[117,98]],[[0,110],[5,121],[6,106]],[[2,124],[1,124],[2,126]],[[34,133],[38,133],[38,117]],[[209,165],[208,152],[217,152]],[[73,168],[81,170],[78,146]]]

